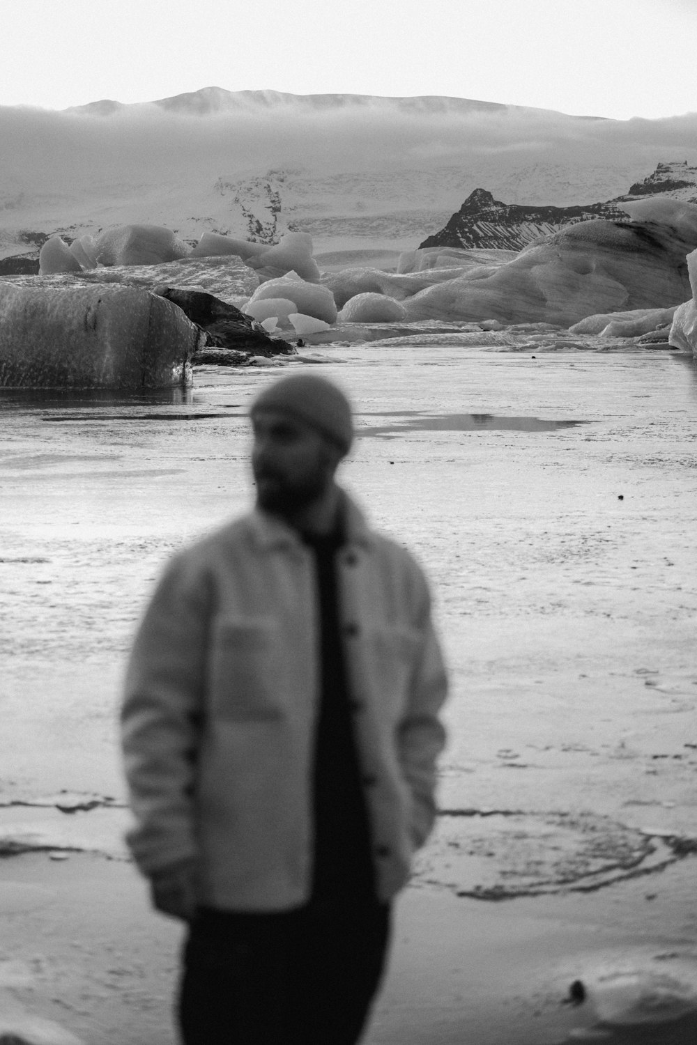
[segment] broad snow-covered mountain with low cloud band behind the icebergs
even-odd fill
[[[608,200],[659,160],[697,165],[697,116],[604,120],[463,98],[205,88],[63,112],[0,107],[0,257],[111,225],[317,252],[415,248],[486,186],[518,205]]]

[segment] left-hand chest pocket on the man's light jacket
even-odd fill
[[[284,707],[284,671],[277,622],[225,618],[209,652],[211,713],[235,722],[277,719]]]

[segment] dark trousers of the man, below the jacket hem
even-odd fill
[[[205,909],[184,953],[185,1045],[355,1045],[385,966],[390,908]]]

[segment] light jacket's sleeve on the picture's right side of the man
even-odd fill
[[[436,819],[436,760],[445,746],[438,715],[447,695],[447,675],[431,617],[431,597],[418,570],[417,628],[421,641],[412,672],[406,712],[397,734],[401,770],[412,792],[412,841],[423,845]]]

